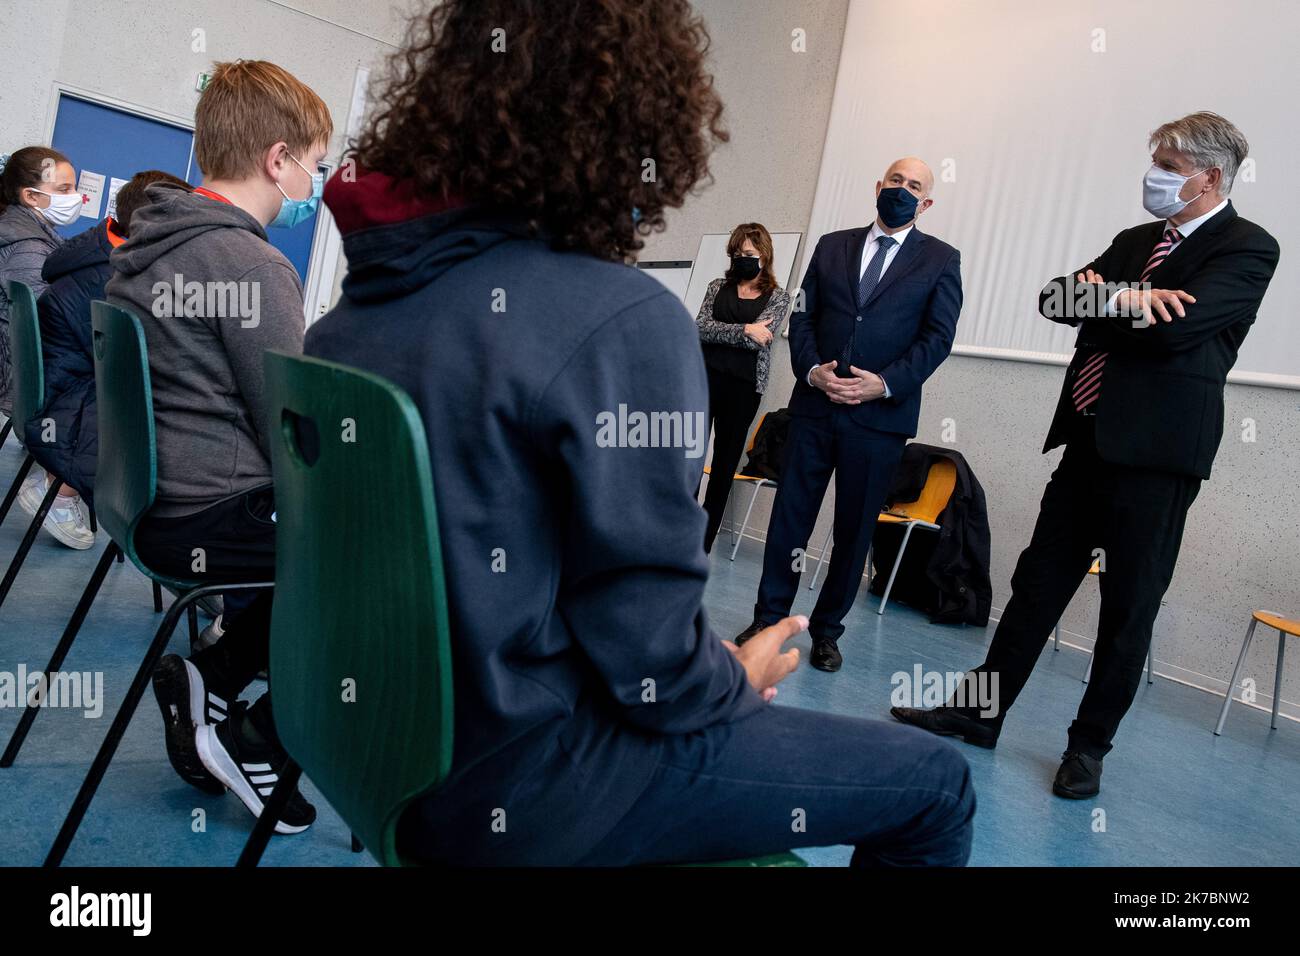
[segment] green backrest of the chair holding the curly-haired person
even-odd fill
[[[451,641],[424,424],[378,376],[273,351],[264,363],[276,730],[367,849],[400,865],[402,810],[451,767]]]

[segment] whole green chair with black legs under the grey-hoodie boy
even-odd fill
[[[100,559],[101,567],[112,561],[114,549],[121,549],[144,576],[155,583],[181,592],[168,609],[162,623],[153,635],[140,662],[126,698],[117,709],[108,736],[95,756],[82,787],[68,812],[66,819],[46,857],[47,866],[57,866],[86,814],[90,801],[99,788],[104,771],[113,760],[117,745],[126,731],[135,708],[153,676],[159,659],[182,611],[190,615],[191,639],[195,630],[194,605],[208,594],[229,591],[272,588],[273,581],[247,581],[203,584],[200,580],[172,578],[150,568],[135,550],[135,528],[153,506],[157,493],[157,447],[153,434],[153,393],[150,388],[150,360],[144,345],[144,330],[139,319],[124,308],[107,302],[91,304],[91,325],[95,351],[95,395],[99,415],[99,462],[95,472],[95,502],[100,524],[112,537],[112,544]],[[98,571],[98,570],[96,570]],[[94,583],[94,581],[92,581]],[[90,594],[94,598],[94,594]],[[88,605],[83,596],[83,602]],[[78,607],[81,610],[81,607]],[[74,636],[74,635],[73,635]],[[56,659],[66,653],[72,639],[55,652]]]

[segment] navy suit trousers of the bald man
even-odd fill
[[[857,424],[848,408],[835,408],[820,419],[790,419],[785,464],[767,524],[755,620],[775,624],[790,613],[809,536],[835,472],[835,548],[809,631],[814,637],[838,640],[842,620],[858,597],[871,536],[905,444],[901,434]]]

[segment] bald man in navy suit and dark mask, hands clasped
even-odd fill
[[[876,183],[876,221],[823,235],[790,315],[790,432],[772,502],[754,623],[736,643],[790,613],[809,536],[835,472],[835,550],[810,618],[814,667],[836,671],[844,615],[858,594],[876,516],[920,386],[948,358],[962,307],[961,255],[916,228],[935,178],[901,159]]]

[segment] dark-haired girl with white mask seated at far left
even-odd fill
[[[5,284],[26,282],[40,298],[40,267],[62,242],[55,226],[75,222],[84,199],[77,193],[77,170],[57,150],[23,147],[0,157],[0,412],[8,418],[13,399]]]

